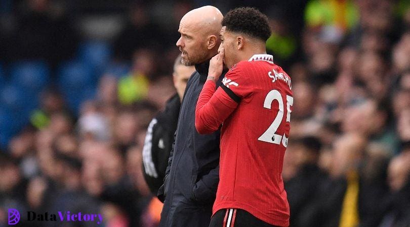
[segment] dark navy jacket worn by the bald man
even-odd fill
[[[195,106],[209,61],[195,69],[182,100],[164,185],[158,190],[158,198],[165,198],[159,226],[208,226],[212,215],[219,182],[220,130],[199,135],[195,129]]]

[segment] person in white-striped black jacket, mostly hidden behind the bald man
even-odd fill
[[[186,83],[194,71],[193,66],[184,66],[181,63],[181,56],[178,56],[173,72],[174,87],[177,89],[177,93],[168,99],[165,110],[159,112],[148,126],[142,150],[142,167],[145,181],[154,195],[163,184],[174,143],[175,130],[177,130],[181,100],[184,96]]]

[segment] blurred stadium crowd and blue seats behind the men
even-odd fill
[[[409,1],[2,0],[0,226],[8,208],[156,226],[141,149],[175,92],[179,20],[204,5],[269,17],[267,50],[295,100],[292,226],[332,226],[348,207],[360,226],[410,224]]]

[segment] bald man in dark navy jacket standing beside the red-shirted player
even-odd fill
[[[188,12],[179,25],[181,63],[195,66],[196,71],[185,89],[174,149],[164,184],[158,190],[158,198],[165,200],[159,226],[197,227],[210,223],[219,182],[220,131],[199,135],[195,106],[208,77],[210,59],[218,52],[222,19],[217,8],[206,6]]]

